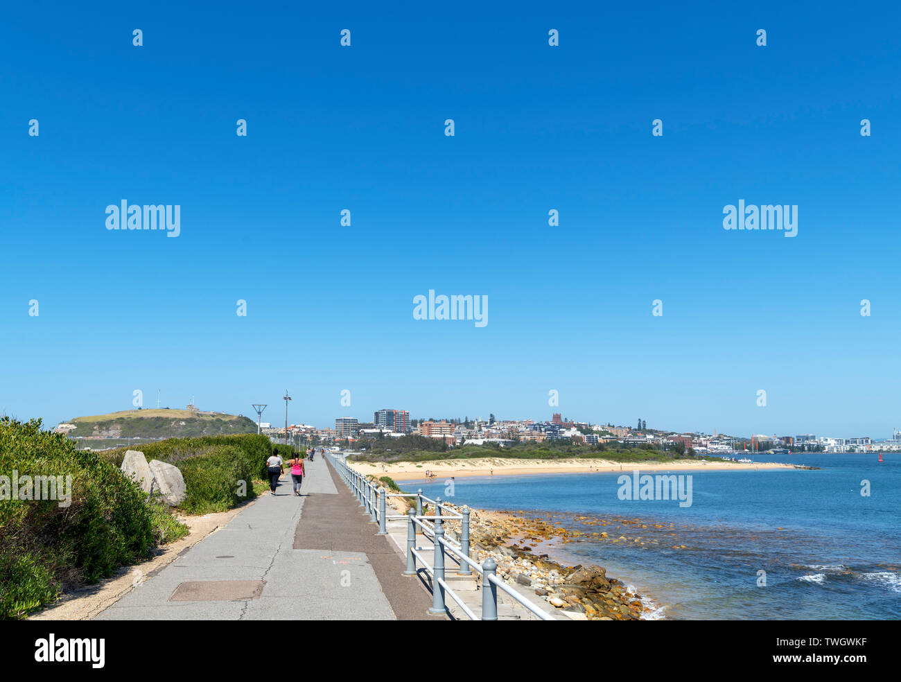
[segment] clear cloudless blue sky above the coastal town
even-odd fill
[[[0,17],[0,412],[901,427],[896,6],[130,5]],[[430,288],[487,326],[414,320]]]

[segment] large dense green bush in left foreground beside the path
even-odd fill
[[[187,533],[99,453],[79,451],[41,421],[0,417],[0,473],[71,477],[71,503],[12,499],[0,482],[0,618],[22,618],[66,587],[112,576]],[[21,489],[20,489],[21,493]],[[59,494],[58,497],[64,497]],[[65,504],[65,502],[63,503]]]

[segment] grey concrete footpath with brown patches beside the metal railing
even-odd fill
[[[302,496],[286,473],[97,620],[444,620],[331,465],[306,472]]]

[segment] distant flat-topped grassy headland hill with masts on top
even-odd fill
[[[257,432],[249,417],[194,410],[127,410],[76,417],[68,423],[76,427],[68,432],[69,438],[196,438]]]

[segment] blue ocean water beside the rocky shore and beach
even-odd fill
[[[401,486],[606,532],[607,539],[542,551],[570,565],[605,566],[654,605],[652,617],[895,620],[901,619],[901,453],[883,457],[882,463],[875,454],[780,458],[819,470],[673,471],[692,476],[687,507],[619,499],[619,472],[459,477],[452,491],[443,479]],[[630,465],[623,473],[631,477]],[[861,481],[869,481],[869,496],[861,495]]]

